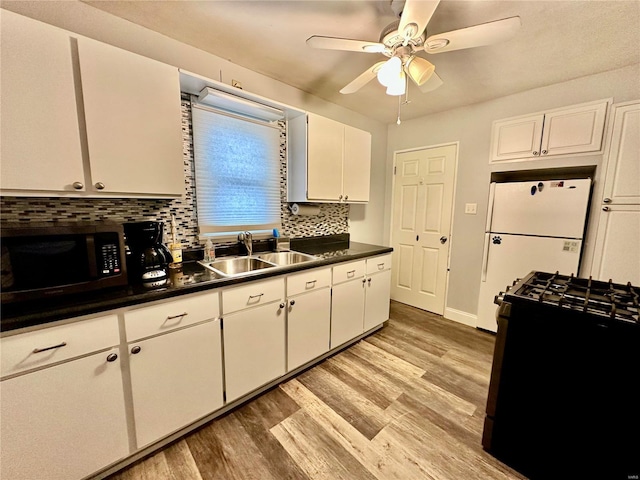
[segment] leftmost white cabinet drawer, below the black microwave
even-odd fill
[[[43,328],[0,339],[2,377],[118,345],[117,315]]]

